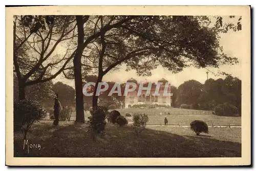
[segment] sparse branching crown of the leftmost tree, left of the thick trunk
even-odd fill
[[[24,92],[27,86],[48,82],[61,73],[73,57],[67,42],[74,37],[75,27],[74,16],[14,16],[13,62],[19,92]],[[66,53],[61,56],[54,53],[60,42],[67,43]],[[25,99],[25,94],[20,94],[23,95],[19,100]]]

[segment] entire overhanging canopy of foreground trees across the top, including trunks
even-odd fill
[[[223,53],[219,34],[241,30],[241,21],[239,17],[234,24],[222,16],[14,16],[20,97],[25,98],[26,86],[62,72],[75,79],[76,113],[83,122],[83,75],[96,74],[97,88],[104,75],[121,64],[139,76],[150,76],[159,65],[177,73],[188,66],[236,64],[237,58]],[[65,52],[54,53],[62,43]],[[94,94],[93,106],[97,98]]]

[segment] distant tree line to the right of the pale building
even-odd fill
[[[174,88],[175,89],[175,88]],[[218,105],[233,105],[241,114],[241,80],[227,76],[225,79],[208,79],[204,84],[196,80],[185,81],[173,98],[174,107],[215,110]]]

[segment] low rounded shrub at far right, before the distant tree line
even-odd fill
[[[236,116],[238,108],[231,104],[220,104],[215,107],[215,114],[219,116]]]

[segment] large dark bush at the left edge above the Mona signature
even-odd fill
[[[22,131],[24,139],[35,121],[47,116],[42,106],[32,100],[14,102],[14,131]]]

